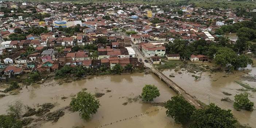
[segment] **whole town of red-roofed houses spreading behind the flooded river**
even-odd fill
[[[179,54],[166,54],[164,43],[175,39],[214,42],[217,28],[247,20],[236,16],[231,9],[203,9],[193,5],[0,1],[0,8],[0,68],[1,74],[9,75],[31,70],[54,71],[65,65],[139,66],[137,50],[154,64],[162,57],[178,60]],[[47,32],[38,35],[29,32],[40,27]],[[79,32],[70,35],[65,31],[76,27]],[[26,39],[11,36],[21,33],[26,34]],[[90,45],[97,50],[73,50],[73,47]],[[205,55],[191,55],[190,60],[209,59]]]

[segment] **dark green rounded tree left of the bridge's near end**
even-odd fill
[[[174,118],[176,123],[185,124],[190,121],[190,116],[193,114],[195,107],[187,102],[182,96],[171,97],[164,107],[166,115]]]

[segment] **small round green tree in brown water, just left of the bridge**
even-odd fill
[[[154,98],[159,96],[159,90],[155,85],[145,85],[142,89],[141,97],[143,101],[153,101]]]

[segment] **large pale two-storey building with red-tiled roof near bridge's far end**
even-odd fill
[[[141,50],[144,56],[147,58],[154,57],[155,55],[159,57],[164,57],[165,55],[165,47],[163,47],[162,45],[144,43],[144,44],[141,44]]]

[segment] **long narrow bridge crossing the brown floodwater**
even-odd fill
[[[196,109],[201,109],[202,108],[202,106],[199,104],[199,102],[193,96],[191,96],[184,89],[182,89],[180,86],[175,84],[170,78],[168,78],[166,75],[164,75],[161,71],[159,71],[158,69],[155,69],[154,67],[151,67],[151,70],[153,71],[153,73],[158,75],[158,77],[160,79],[162,79],[164,82],[166,82],[166,84],[170,88],[174,89],[175,92],[177,92],[178,94],[183,96],[183,98],[186,101],[190,102],[191,105],[194,105]]]

